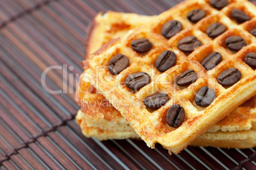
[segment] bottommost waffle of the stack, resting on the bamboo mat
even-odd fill
[[[94,137],[98,140],[140,139],[134,130],[119,131],[118,128],[124,128],[120,124],[117,125],[116,129],[108,130],[103,129],[103,126],[106,126],[104,124],[101,124],[101,126],[87,126],[87,119],[90,119],[90,117],[84,117],[84,114],[79,110],[76,115],[76,121],[87,138]],[[256,130],[255,126],[253,127],[246,131],[204,133],[190,145],[196,147],[252,148],[256,146]]]

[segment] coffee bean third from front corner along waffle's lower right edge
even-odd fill
[[[241,76],[241,72],[232,67],[218,75],[218,82],[222,84],[222,86],[232,86],[241,79]]]

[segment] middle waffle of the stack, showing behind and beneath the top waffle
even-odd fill
[[[90,31],[90,38],[87,40],[87,53],[92,54],[96,51],[96,49],[99,49],[101,46],[103,46],[105,42],[115,39],[117,36],[124,36],[124,34],[127,33],[125,31],[128,31],[127,28],[135,28],[143,24],[142,22],[134,21],[148,21],[150,18],[153,20],[155,16],[141,17],[141,15],[134,15],[131,13],[117,13],[113,11],[110,11],[103,16],[101,13],[99,13],[96,18],[94,18],[94,26]],[[246,30],[251,30],[253,27],[256,27],[256,24],[253,25],[251,23],[252,22],[249,22],[244,25]],[[121,25],[125,26],[122,27]],[[248,25],[250,25],[250,27],[248,27]],[[83,75],[81,77],[83,77]],[[76,100],[81,106],[83,113],[87,115],[87,117],[90,117],[91,121],[87,122],[87,125],[92,127],[94,126],[94,123],[101,123],[101,125],[124,124],[126,126],[128,122],[124,123],[126,121],[120,112],[112,107],[103,95],[96,93],[95,90],[92,91],[92,93],[88,93],[88,91],[86,91],[90,87],[89,85],[89,82],[85,82],[83,79],[81,79],[80,88],[78,88],[76,95]],[[82,102],[82,100],[84,102]],[[250,112],[245,110],[244,114],[250,115]],[[213,126],[210,131],[213,132],[217,131],[218,129],[222,129],[223,131],[236,131],[252,128],[252,122],[255,122],[256,120],[251,120],[250,116],[244,116],[244,114],[231,114],[232,116],[225,118],[225,121],[221,121],[221,123],[219,122],[215,124],[215,126]],[[106,123],[106,121],[108,122]],[[104,127],[102,128],[105,129]],[[109,129],[109,126],[106,129]]]

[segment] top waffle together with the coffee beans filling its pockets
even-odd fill
[[[232,12],[234,8],[239,8],[239,12]],[[96,75],[97,67],[99,84],[93,80],[92,84],[96,85],[99,92],[103,93],[125,119],[131,122],[132,128],[149,147],[153,147],[154,143],[158,142],[171,152],[180,152],[199,134],[220,121],[250,96],[255,95],[255,88],[253,88],[255,71],[238,55],[240,51],[253,49],[255,37],[232,22],[229,19],[231,16],[225,14],[225,12],[237,14],[241,11],[251,20],[255,15],[254,7],[246,1],[243,1],[243,5],[241,2],[230,2],[221,11],[212,8],[208,2],[186,1],[159,15],[154,22],[150,22],[148,27],[133,30],[124,38],[111,42],[101,51],[97,51],[87,65],[92,75]],[[227,27],[228,30],[224,36],[217,36],[218,41],[211,39],[210,35],[196,27],[205,20],[210,22],[215,15],[234,23],[234,27],[231,25]],[[238,19],[234,14],[232,17],[238,22],[242,22],[241,20],[246,22],[245,19],[248,18]],[[175,21],[169,23],[174,18]],[[168,32],[167,34],[161,31],[164,23],[167,23],[167,28],[173,27],[168,25],[175,25],[176,33],[171,34],[173,37],[169,38]],[[192,23],[196,25],[192,26]],[[192,51],[195,54],[197,49],[204,49],[209,44],[215,48],[222,48],[230,55],[227,60],[222,58],[217,65],[218,68],[214,68],[217,74],[213,74],[213,71],[206,72],[204,67],[194,59],[181,59],[183,55],[189,55]],[[198,46],[203,47],[197,48]],[[173,67],[167,68],[166,65],[162,65],[164,53],[168,56],[167,62],[173,63],[176,56]],[[116,68],[108,67],[108,62],[112,58],[113,65],[121,59],[127,61],[125,56],[129,59],[128,67],[125,69],[124,65],[122,67],[118,65]],[[160,62],[155,67],[157,59]],[[113,89],[113,85],[117,88]],[[161,94],[155,95],[159,90]],[[196,94],[194,94],[195,91]],[[162,93],[167,94],[167,100],[164,100],[166,103],[157,103],[160,106],[158,110],[153,111],[158,106],[152,106],[150,104],[152,100],[149,100],[148,108],[145,107],[146,97],[153,95],[151,96],[153,101],[166,98]]]

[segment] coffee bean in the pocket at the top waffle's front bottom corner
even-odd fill
[[[169,126],[173,128],[178,128],[184,122],[185,119],[185,110],[180,105],[172,105],[167,114],[166,114],[166,122]]]

